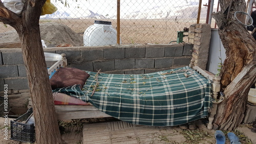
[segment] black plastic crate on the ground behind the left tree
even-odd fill
[[[33,113],[30,108],[25,114],[11,121],[11,139],[22,142],[35,142],[35,126],[34,124],[26,124]]]

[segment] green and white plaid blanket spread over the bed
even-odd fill
[[[132,124],[181,125],[207,117],[211,107],[211,82],[208,79],[196,71],[188,78],[184,76],[184,71],[166,74],[181,69],[188,69],[187,74],[193,70],[186,66],[142,75],[100,73],[99,85],[92,96],[96,73],[88,71],[90,78],[82,91],[79,92],[79,87],[74,86],[73,89],[78,90],[69,94]]]

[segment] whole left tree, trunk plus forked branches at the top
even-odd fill
[[[0,22],[12,26],[22,43],[35,117],[36,143],[62,143],[39,30],[41,7],[45,2],[26,1],[22,15],[18,16],[0,1]]]

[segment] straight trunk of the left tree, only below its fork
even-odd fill
[[[36,142],[61,143],[39,25],[24,29],[20,40],[36,122]]]

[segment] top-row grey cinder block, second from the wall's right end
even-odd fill
[[[183,44],[175,44],[165,47],[164,57],[182,57]]]

